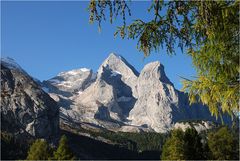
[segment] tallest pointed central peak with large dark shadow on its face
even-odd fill
[[[61,106],[64,122],[87,122],[108,129],[120,127],[136,102],[138,72],[124,58],[112,53],[95,75],[96,78],[87,83],[89,86],[86,89],[76,90],[75,94],[70,90],[65,91],[71,92],[67,98],[71,101],[69,107],[66,108],[59,99],[55,99]],[[47,82],[54,85],[51,79]],[[50,95],[62,97],[57,90],[50,91]]]

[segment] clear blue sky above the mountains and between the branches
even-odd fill
[[[115,27],[89,24],[88,1],[1,1],[1,56],[11,57],[30,75],[39,80],[50,79],[59,72],[86,67],[97,71],[111,52],[122,55],[139,72],[151,61],[160,61],[177,89],[182,87],[180,77],[195,75],[191,59],[177,49],[177,55],[168,56],[165,50],[152,53],[144,59],[136,48],[137,41],[114,38]],[[149,20],[150,2],[133,1],[132,17]]]

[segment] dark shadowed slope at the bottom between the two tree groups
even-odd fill
[[[66,135],[69,139],[69,145],[72,151],[80,159],[94,160],[159,160],[159,151],[131,151],[120,145],[107,144],[86,136],[73,134],[62,130],[61,134]]]

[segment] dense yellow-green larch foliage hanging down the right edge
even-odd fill
[[[189,49],[198,78],[185,80],[184,90],[191,102],[201,101],[212,114],[218,116],[221,110],[232,114],[239,111],[239,2],[203,5],[194,27],[204,39],[198,48]]]

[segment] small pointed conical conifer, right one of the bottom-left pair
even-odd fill
[[[75,157],[68,146],[68,140],[63,135],[59,141],[57,150],[54,152],[54,160],[74,160]]]

